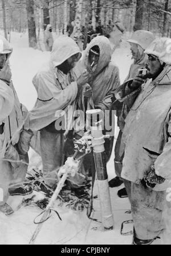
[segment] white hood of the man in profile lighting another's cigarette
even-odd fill
[[[52,67],[55,68],[56,66],[59,66],[65,60],[70,58],[72,55],[78,53],[80,59],[82,56],[82,52],[72,38],[66,35],[59,36],[53,44],[50,63]]]

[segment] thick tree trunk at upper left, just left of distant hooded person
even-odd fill
[[[34,17],[34,0],[26,0],[27,21],[28,21],[28,40],[30,47],[37,47],[36,26]]]

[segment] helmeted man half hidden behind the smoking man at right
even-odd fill
[[[133,33],[132,37],[128,40],[131,46],[132,52],[132,59],[134,62],[132,63],[131,67],[129,68],[129,74],[125,81],[135,78],[135,76],[139,73],[139,69],[144,68],[147,56],[144,54],[144,50],[149,44],[154,40],[154,35],[150,31],[146,30],[137,30]],[[122,169],[122,160],[123,156],[119,155],[120,150],[120,141],[121,136],[123,133],[123,128],[125,125],[125,118],[128,114],[128,109],[126,104],[118,104],[116,103],[117,109],[117,117],[118,117],[118,126],[120,128],[119,135],[117,137],[116,145],[115,145],[115,172],[116,177],[109,181],[109,186],[116,187],[123,184],[123,180],[120,179],[120,173]],[[127,192],[125,188],[119,190],[118,192],[119,197],[127,197]]]

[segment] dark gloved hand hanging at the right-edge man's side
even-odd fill
[[[157,184],[162,184],[165,181],[165,178],[162,178],[155,173],[154,165],[152,165],[150,169],[151,170],[147,176],[141,180],[141,184],[143,184],[145,188],[153,189]]]

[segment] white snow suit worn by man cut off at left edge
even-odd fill
[[[25,117],[23,117],[21,104],[11,82],[11,70],[8,60],[13,48],[10,47],[3,36],[0,36],[0,44],[0,54],[7,54],[5,67],[0,70],[0,188],[3,190],[3,201],[0,200],[0,204],[3,204],[9,196],[8,190],[10,186],[18,188],[23,185],[27,165],[20,163],[14,169],[9,161],[2,160],[6,158],[6,153],[9,150],[7,144],[11,148],[18,144]],[[9,159],[10,157],[7,158]],[[19,160],[28,162],[27,154],[19,155]]]

